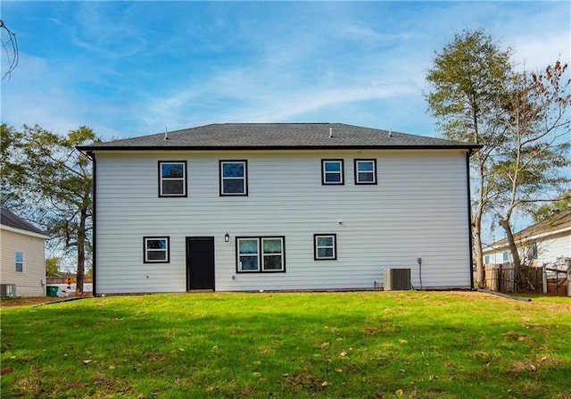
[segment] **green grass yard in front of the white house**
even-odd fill
[[[571,299],[108,296],[2,309],[7,398],[571,398]]]

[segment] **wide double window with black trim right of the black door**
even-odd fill
[[[285,271],[284,237],[236,237],[236,271]]]

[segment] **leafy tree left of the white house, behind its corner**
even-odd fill
[[[91,248],[92,167],[76,149],[98,138],[80,127],[61,136],[39,126],[2,124],[3,206],[26,214],[77,259],[77,293],[83,293]]]

